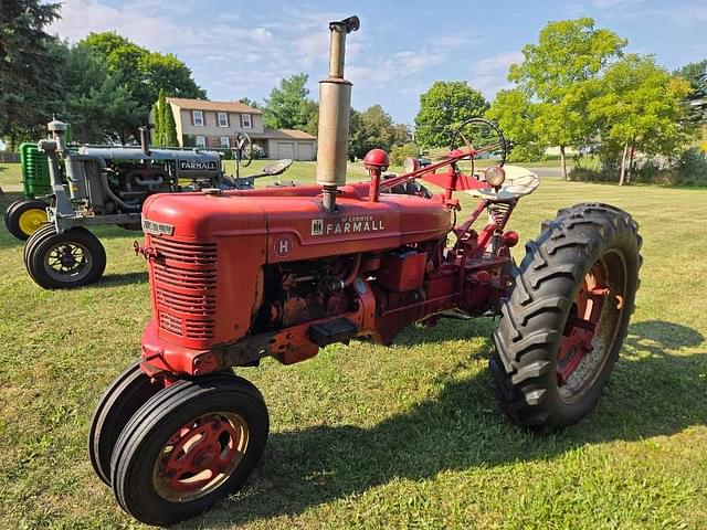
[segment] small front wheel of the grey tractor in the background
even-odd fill
[[[106,268],[106,251],[98,239],[82,226],[57,234],[54,226],[38,230],[24,247],[24,266],[45,289],[89,285]]]

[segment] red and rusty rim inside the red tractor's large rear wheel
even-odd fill
[[[608,257],[608,256],[604,256]],[[622,259],[599,259],[584,275],[572,301],[557,353],[560,398],[573,401],[592,385],[613,344],[623,310]],[[623,267],[622,267],[623,268]]]

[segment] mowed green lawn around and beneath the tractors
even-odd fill
[[[282,179],[313,174],[298,163]],[[526,241],[582,201],[632,212],[645,259],[630,336],[589,417],[551,436],[505,420],[488,388],[492,319],[411,326],[391,348],[354,341],[292,367],[266,360],[239,370],[270,407],[261,464],[180,528],[705,528],[707,190],[546,180],[511,226]],[[146,264],[131,250],[139,233],[96,233],[104,279],[45,292],[0,231],[3,528],[141,528],[94,476],[86,434],[103,390],[139,357]]]

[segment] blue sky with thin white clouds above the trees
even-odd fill
[[[707,1],[179,1],[64,0],[51,31],[72,42],[115,30],[184,61],[210,99],[262,100],[283,76],[317,81],[328,61],[327,22],[361,19],[349,35],[346,76],[352,104],[379,103],[411,124],[420,94],[436,80],[465,80],[493,99],[508,65],[551,20],[593,17],[629,39],[627,51],[654,54],[673,70],[707,59]]]

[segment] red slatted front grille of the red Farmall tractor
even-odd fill
[[[160,329],[205,346],[215,327],[217,244],[152,237],[151,246]]]

